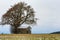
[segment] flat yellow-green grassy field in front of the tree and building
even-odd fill
[[[60,34],[0,34],[0,40],[60,40]]]

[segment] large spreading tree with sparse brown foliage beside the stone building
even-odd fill
[[[20,2],[12,6],[3,16],[2,25],[9,24],[14,28],[14,33],[17,34],[17,29],[22,24],[34,24],[36,18],[34,9],[24,2]],[[12,32],[13,33],[13,32]]]

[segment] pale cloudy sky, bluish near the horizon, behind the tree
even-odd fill
[[[25,2],[35,10],[37,24],[32,26],[32,34],[60,31],[60,0],[0,0],[0,21],[12,5]],[[10,34],[9,25],[0,25],[0,33]]]

